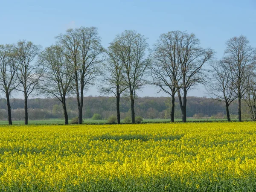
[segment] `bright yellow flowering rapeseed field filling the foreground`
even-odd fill
[[[0,126],[2,191],[256,191],[256,123]]]

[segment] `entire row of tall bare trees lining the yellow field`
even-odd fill
[[[131,100],[131,119],[134,123],[136,93],[145,84],[154,84],[171,96],[172,122],[176,93],[183,122],[186,122],[187,92],[196,84],[207,84],[209,72],[214,79],[207,86],[211,87],[209,92],[215,94],[215,99],[218,97],[226,102],[226,106],[237,98],[240,121],[241,99],[245,93],[250,93],[249,98],[255,93],[255,87],[248,79],[254,74],[255,49],[250,47],[244,36],[227,41],[221,61],[213,61],[214,51],[200,47],[199,39],[186,32],[173,31],[160,35],[152,50],[143,35],[131,30],[116,35],[107,49],[102,47],[100,40],[95,27],[80,27],[58,35],[55,45],[43,51],[41,46],[27,41],[1,45],[0,89],[6,94],[9,124],[12,124],[9,96],[13,90],[24,93],[25,124],[28,123],[27,100],[34,91],[58,98],[65,124],[68,124],[67,96],[75,95],[79,123],[82,123],[84,93],[94,84],[97,76],[101,81],[99,90],[105,94],[113,93],[116,97],[118,123],[121,94]],[[212,70],[204,67],[207,63]],[[221,66],[225,67],[224,70]],[[219,73],[222,75],[219,76]],[[252,103],[251,100],[249,103]],[[255,105],[253,107],[254,110]]]

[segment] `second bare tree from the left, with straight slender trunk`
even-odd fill
[[[41,46],[31,41],[18,41],[14,45],[17,58],[17,79],[20,86],[16,89],[24,93],[25,125],[28,124],[28,97],[35,90],[44,70],[35,58],[41,51]]]

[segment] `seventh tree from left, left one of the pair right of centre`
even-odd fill
[[[178,81],[181,78],[177,54],[180,33],[180,31],[172,31],[160,35],[159,40],[154,44],[154,62],[151,66],[153,84],[160,87],[160,91],[171,96],[171,122],[174,122],[175,94]]]

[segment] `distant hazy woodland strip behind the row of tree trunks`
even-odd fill
[[[226,118],[224,102],[215,101],[206,97],[187,97],[187,116],[200,118]],[[175,103],[175,119],[181,119],[178,99]],[[24,100],[10,99],[14,120],[24,119]],[[69,119],[78,116],[76,98],[67,98],[67,113]],[[121,119],[131,115],[128,98],[120,99]],[[246,105],[243,105],[246,106]],[[89,119],[94,113],[99,113],[102,119],[116,115],[116,98],[106,96],[84,97],[83,118]],[[237,118],[238,102],[230,105],[231,118]],[[30,120],[64,118],[61,102],[58,99],[28,99]],[[144,119],[170,119],[171,100],[169,97],[138,97],[135,102],[135,115]],[[249,111],[242,108],[243,118],[250,119]],[[7,119],[6,99],[0,99],[0,120]]]

